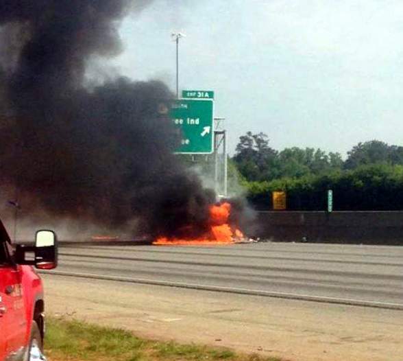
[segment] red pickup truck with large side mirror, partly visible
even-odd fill
[[[33,266],[49,270],[57,262],[53,231],[36,232],[35,246],[14,251],[0,220],[0,361],[46,360],[43,287]]]

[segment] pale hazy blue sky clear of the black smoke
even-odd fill
[[[272,148],[402,145],[403,1],[154,0],[120,27],[110,67],[134,80],[215,91],[229,150],[247,131]]]

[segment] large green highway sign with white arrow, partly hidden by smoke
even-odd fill
[[[182,134],[178,154],[211,154],[214,135],[212,100],[173,100],[169,117]]]

